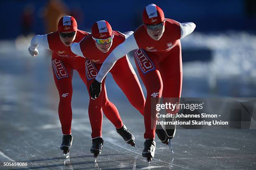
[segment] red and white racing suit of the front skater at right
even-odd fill
[[[141,25],[133,35],[110,53],[96,77],[98,82],[102,82],[108,70],[115,65],[116,61],[118,62],[118,59],[129,51],[135,50],[136,66],[147,90],[144,107],[146,129],[144,138],[146,139],[155,137],[157,120],[155,105],[159,99],[162,96],[176,97],[169,102],[179,102],[182,90],[182,54],[179,39],[189,35],[194,29],[194,23],[179,23],[166,18],[162,37],[160,40],[153,40],[148,35],[146,26]],[[169,113],[175,114],[177,111]]]

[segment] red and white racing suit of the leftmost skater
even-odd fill
[[[88,32],[77,30],[77,35],[74,42],[81,41],[84,37],[89,35]],[[92,63],[84,57],[75,55],[70,47],[65,46],[60,38],[58,32],[51,32],[47,35],[36,35],[36,42],[33,40],[34,45],[42,45],[43,47],[52,51],[52,70],[54,74],[54,81],[59,91],[59,120],[61,122],[61,129],[64,135],[71,134],[71,122],[72,122],[72,75],[73,70],[77,70],[79,76],[87,87],[90,87]],[[88,88],[89,89],[89,88]],[[117,108],[115,105],[108,100],[107,92],[105,87],[102,88],[102,108],[100,109],[89,105],[90,120],[93,119],[93,115],[102,114],[102,110],[106,117],[115,125],[115,128],[121,128],[123,122],[120,118]],[[89,93],[89,92],[88,92]],[[97,121],[97,117],[95,117]],[[99,122],[100,124],[102,122]],[[91,124],[93,129],[95,124]],[[100,130],[101,135],[101,128]]]

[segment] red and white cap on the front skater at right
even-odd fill
[[[156,4],[149,4],[143,11],[143,23],[146,25],[156,25],[164,22],[164,12]]]

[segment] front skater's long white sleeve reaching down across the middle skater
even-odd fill
[[[130,32],[131,33],[131,32]],[[115,37],[114,39],[115,40]],[[125,39],[123,43],[115,47],[115,49],[108,55],[108,57],[103,62],[102,66],[100,67],[100,71],[95,78],[98,82],[102,82],[108,72],[112,69],[115,65],[115,62],[126,55],[131,50],[138,49],[137,42],[134,38],[133,33]]]

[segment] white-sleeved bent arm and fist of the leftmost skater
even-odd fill
[[[43,46],[44,48],[46,49],[49,49],[49,43],[48,43],[48,40],[47,40],[47,34],[46,35],[35,35],[32,40],[31,40],[31,43],[30,43],[30,46],[28,48],[28,51],[29,53],[32,55],[32,56],[36,56],[38,55],[38,49],[37,47],[41,45]]]

